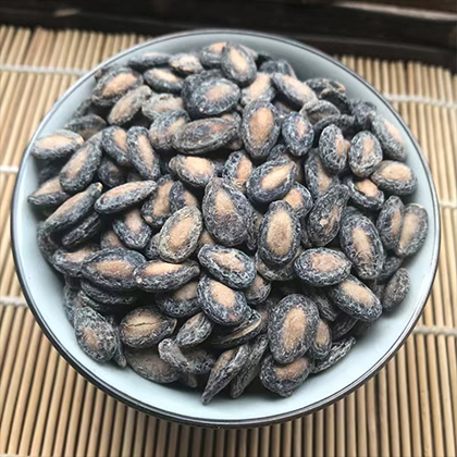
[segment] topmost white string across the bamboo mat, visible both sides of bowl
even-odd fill
[[[61,74],[70,76],[84,76],[88,70],[84,69],[71,69],[61,66],[34,66],[34,65],[11,65],[8,63],[0,64],[1,72],[18,72],[18,73],[36,73],[36,74]],[[457,102],[447,101],[442,99],[435,99],[430,97],[422,97],[417,95],[407,94],[383,94],[391,102],[412,102],[412,103],[424,103],[432,104],[440,108],[457,109]]]

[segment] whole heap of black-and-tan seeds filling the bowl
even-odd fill
[[[205,404],[289,396],[341,360],[404,300],[427,236],[397,127],[237,44],[103,67],[32,153],[82,349]]]

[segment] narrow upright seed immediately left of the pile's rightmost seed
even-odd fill
[[[399,197],[392,196],[383,205],[376,221],[376,228],[386,249],[395,249],[404,223],[405,207]]]

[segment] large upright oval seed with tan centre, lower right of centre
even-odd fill
[[[274,305],[270,311],[268,337],[270,350],[280,363],[301,357],[314,338],[319,312],[305,295],[293,294]]]

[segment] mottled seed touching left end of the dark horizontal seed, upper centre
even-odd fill
[[[161,152],[173,150],[173,136],[189,122],[185,111],[166,111],[159,114],[149,129],[149,138],[153,148]]]

